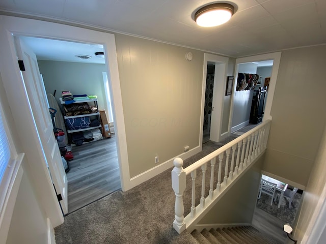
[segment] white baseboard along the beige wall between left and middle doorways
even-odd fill
[[[169,168],[173,167],[173,160],[175,158],[181,158],[182,160],[185,160],[191,156],[194,156],[195,154],[198,154],[201,151],[201,146],[197,146],[189,151],[187,153],[180,154],[178,156],[175,156],[173,159],[170,159],[164,163],[161,163],[154,168],[151,168],[139,175],[136,175],[130,179],[130,189],[142,184],[146,180],[149,180],[150,178],[166,171]]]

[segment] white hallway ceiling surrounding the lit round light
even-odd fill
[[[326,43],[325,0],[233,0],[237,11],[229,22],[199,27],[194,13],[210,2],[1,0],[0,14],[78,23],[232,57]]]

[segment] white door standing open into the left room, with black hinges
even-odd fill
[[[42,143],[51,179],[57,191],[57,195],[61,195],[62,200],[59,202],[63,213],[67,214],[67,176],[62,163],[59,146],[53,134],[52,120],[48,110],[44,84],[42,83],[36,55],[19,37],[15,37],[15,44],[17,56],[19,60],[23,60],[25,71],[22,71],[22,77],[32,107],[35,124]]]

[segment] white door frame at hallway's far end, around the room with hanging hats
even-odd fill
[[[273,59],[273,68],[271,70],[270,81],[268,86],[268,94],[267,100],[264,110],[263,121],[267,119],[271,119],[271,105],[273,104],[277,75],[279,72],[280,67],[280,60],[281,60],[281,52],[272,52],[260,55],[254,55],[249,57],[240,57],[235,60],[235,72],[234,72],[234,85],[233,85],[233,92],[231,97],[231,107],[230,107],[230,117],[229,117],[229,136],[231,135],[231,127],[232,127],[232,117],[233,117],[233,107],[234,107],[234,94],[236,92],[236,84],[238,80],[238,65],[243,63],[251,63],[251,62],[259,62],[264,60],[271,60]]]

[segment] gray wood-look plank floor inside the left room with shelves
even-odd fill
[[[114,135],[73,146],[72,154],[67,173],[68,214],[121,189]]]

